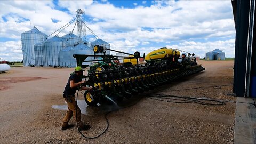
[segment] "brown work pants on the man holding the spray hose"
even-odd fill
[[[76,107],[75,97],[71,96],[71,95],[69,95],[69,97],[72,102],[69,102],[68,98],[65,98],[65,101],[68,103],[68,111],[67,111],[66,116],[63,119],[62,127],[67,126],[69,120],[74,115],[75,122],[77,121],[78,127],[80,128],[83,126],[83,122],[81,121],[81,110],[78,106]]]

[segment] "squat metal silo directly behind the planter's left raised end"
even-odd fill
[[[93,54],[93,49],[87,46],[87,43],[79,43],[74,45],[74,48],[70,50],[71,67],[76,67],[76,59],[73,54]],[[85,60],[93,60],[93,57],[88,57]],[[83,65],[91,65],[90,62],[83,62]]]

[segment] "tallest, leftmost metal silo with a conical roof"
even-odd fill
[[[21,49],[24,66],[36,64],[34,45],[43,42],[46,37],[47,35],[39,31],[36,27],[21,34]]]

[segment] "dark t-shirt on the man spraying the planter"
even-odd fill
[[[73,89],[71,89],[70,87],[70,81],[74,81],[75,83],[78,83],[81,81],[80,77],[77,76],[76,74],[72,74],[69,79],[68,79],[68,83],[65,87],[65,90],[63,92],[63,97],[66,98],[67,95],[73,95],[75,96],[75,93],[76,93],[76,90],[77,90],[77,87],[74,87]]]

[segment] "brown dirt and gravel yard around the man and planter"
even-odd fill
[[[15,67],[0,74],[1,143],[233,143],[234,61],[198,61],[205,71],[144,93],[223,100],[209,106],[141,98],[129,108],[107,115],[109,129],[85,139],[76,127],[61,131],[66,110],[62,98],[73,68]],[[213,86],[213,87],[210,87]],[[198,89],[193,89],[197,88]],[[191,89],[190,89],[191,88]],[[138,99],[139,99],[138,98]],[[106,129],[104,113],[114,106],[87,107],[79,94],[82,119],[91,125],[82,133],[94,137]],[[127,105],[137,98],[125,101]],[[116,107],[116,106],[115,106]],[[59,109],[55,109],[59,108]],[[70,124],[76,124],[71,119]]]

